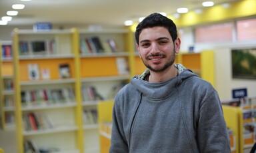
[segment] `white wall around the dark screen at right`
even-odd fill
[[[186,28],[181,35],[181,51],[188,51],[193,45],[193,30]],[[249,97],[256,96],[256,79],[232,78],[231,49],[256,47],[256,41],[243,41],[235,43],[197,43],[194,44],[195,52],[211,49],[215,53],[215,88],[219,92],[221,100],[232,98],[232,90],[235,88],[247,88]]]

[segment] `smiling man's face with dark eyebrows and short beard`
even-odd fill
[[[173,65],[179,53],[180,40],[175,43],[165,27],[143,29],[137,49],[144,65],[151,71],[163,72]]]

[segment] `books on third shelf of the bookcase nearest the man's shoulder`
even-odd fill
[[[83,101],[104,100],[103,96],[97,92],[95,86],[82,86]]]

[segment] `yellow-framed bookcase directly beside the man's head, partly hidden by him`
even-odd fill
[[[99,118],[90,121],[88,116],[95,116],[100,101],[113,100],[119,88],[127,84],[134,74],[130,33],[127,29],[79,30],[85,152],[99,152],[99,147],[95,146],[100,143]],[[89,50],[90,46],[97,45],[92,42],[95,38],[101,43],[103,51],[93,47],[93,51]],[[115,43],[114,50],[109,42]],[[91,96],[92,90],[97,95]]]

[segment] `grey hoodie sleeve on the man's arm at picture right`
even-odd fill
[[[231,152],[227,125],[216,91],[206,94],[199,108],[197,140],[200,152]]]

